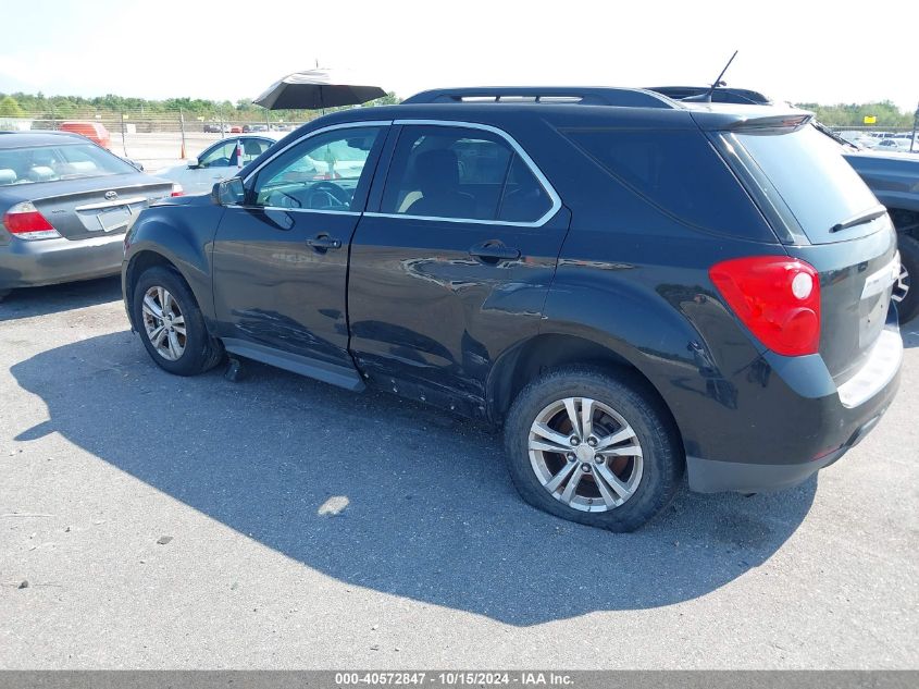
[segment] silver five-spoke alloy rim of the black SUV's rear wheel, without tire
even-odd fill
[[[614,509],[642,481],[635,431],[614,409],[587,397],[545,407],[530,427],[529,450],[543,488],[574,509]]]

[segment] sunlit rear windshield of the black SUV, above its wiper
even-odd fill
[[[879,229],[869,223],[860,230],[830,232],[840,222],[875,208],[878,199],[840,155],[840,147],[815,127],[731,136],[769,177],[812,243],[852,239]]]

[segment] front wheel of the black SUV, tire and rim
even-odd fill
[[[145,297],[148,297],[147,308]],[[158,316],[158,311],[163,312],[163,303],[169,319]],[[140,341],[163,370],[176,376],[197,376],[223,358],[223,345],[208,333],[191,290],[174,271],[161,266],[145,270],[135,283],[132,308]],[[164,327],[159,329],[160,325]]]

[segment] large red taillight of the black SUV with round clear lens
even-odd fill
[[[735,258],[708,271],[728,306],[769,349],[816,354],[820,345],[820,279],[812,266],[779,256]]]

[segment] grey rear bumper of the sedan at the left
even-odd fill
[[[113,275],[123,257],[124,234],[75,241],[13,238],[0,246],[0,290]]]

